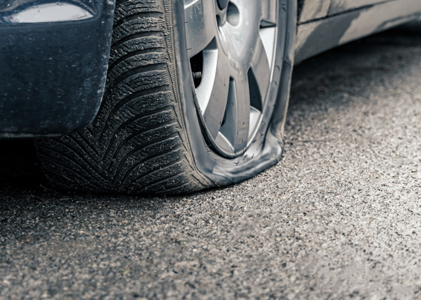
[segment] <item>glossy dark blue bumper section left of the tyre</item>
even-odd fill
[[[0,138],[86,128],[103,96],[114,1],[0,4]]]

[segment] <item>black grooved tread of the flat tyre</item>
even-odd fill
[[[179,194],[212,186],[196,168],[176,94],[171,1],[118,0],[103,103],[82,132],[36,143],[46,178],[88,192]]]

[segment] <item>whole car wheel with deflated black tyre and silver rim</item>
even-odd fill
[[[56,187],[181,193],[280,159],[293,0],[121,0],[106,93],[87,130],[37,143]]]

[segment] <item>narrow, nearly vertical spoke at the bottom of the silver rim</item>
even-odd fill
[[[250,126],[250,92],[246,76],[235,78],[235,97],[237,100],[237,137],[234,149],[238,151],[247,145]]]

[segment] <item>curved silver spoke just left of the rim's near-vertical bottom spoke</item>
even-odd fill
[[[223,51],[218,51],[218,62],[216,63],[213,86],[208,94],[206,108],[202,108],[203,120],[212,138],[216,138],[222,125],[225,115],[225,108],[228,101],[228,89],[230,86],[229,64]],[[199,87],[200,88],[200,87]],[[198,93],[198,97],[201,96]],[[201,102],[201,100],[199,100]]]

